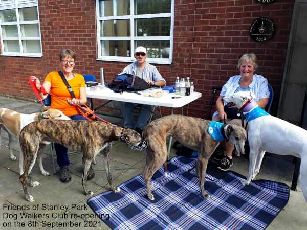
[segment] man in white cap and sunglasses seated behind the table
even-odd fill
[[[145,47],[137,47],[134,56],[137,61],[126,66],[120,74],[133,74],[144,79],[152,86],[166,85],[166,81],[161,76],[156,66],[146,62],[147,50]],[[133,119],[133,108],[137,105],[141,106],[141,111],[137,122],[135,122]],[[142,133],[150,118],[152,109],[152,105],[123,102],[122,114],[124,118],[124,126]]]

